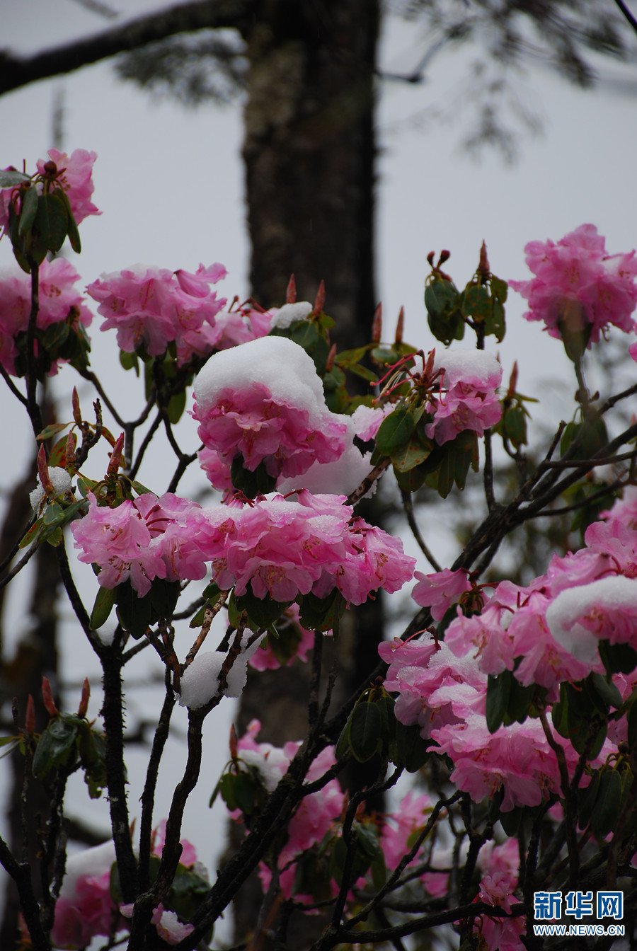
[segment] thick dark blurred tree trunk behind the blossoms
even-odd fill
[[[244,113],[247,221],[252,294],[280,306],[294,273],[299,300],[314,301],[325,280],[325,311],[338,349],[371,336],[374,281],[374,80],[376,0],[264,0],[243,34],[249,61]],[[360,509],[360,507],[359,507]],[[377,522],[367,504],[365,516]],[[380,601],[343,619],[341,697],[376,663]],[[334,650],[326,650],[334,657]],[[329,663],[329,661],[328,661]],[[307,729],[309,665],[251,676],[241,699],[240,733],[261,720],[261,740],[281,746]],[[365,770],[346,778],[366,785]],[[377,805],[377,804],[376,804]],[[256,876],[235,901],[235,940],[253,933],[261,904]],[[297,921],[299,919],[299,921]],[[318,937],[321,918],[296,916],[286,948]],[[274,946],[259,936],[263,947]]]

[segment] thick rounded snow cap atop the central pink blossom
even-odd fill
[[[197,405],[205,409],[222,390],[249,383],[262,383],[275,401],[306,410],[311,420],[328,412],[313,359],[286,337],[260,337],[213,354],[195,380]]]

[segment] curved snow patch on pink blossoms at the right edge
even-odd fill
[[[547,610],[547,624],[558,644],[576,660],[594,664],[599,658],[599,638],[577,620],[590,611],[601,618],[605,611],[634,613],[637,616],[637,578],[612,574],[588,585],[559,592]],[[603,637],[603,632],[601,632]]]

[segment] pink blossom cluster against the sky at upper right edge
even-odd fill
[[[527,320],[543,320],[551,337],[585,330],[587,346],[596,343],[609,324],[626,332],[634,327],[630,314],[637,303],[635,251],[608,255],[606,239],[594,224],[581,224],[557,243],[530,242],[525,247],[531,281],[509,281],[529,301]]]

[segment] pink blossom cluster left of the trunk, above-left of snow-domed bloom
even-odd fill
[[[137,264],[103,274],[87,286],[87,293],[106,318],[100,329],[114,328],[121,350],[134,353],[144,346],[150,357],[159,357],[174,341],[177,362],[183,365],[254,336],[241,313],[220,314],[226,301],[210,284],[226,274],[222,264],[200,264],[194,274]]]

